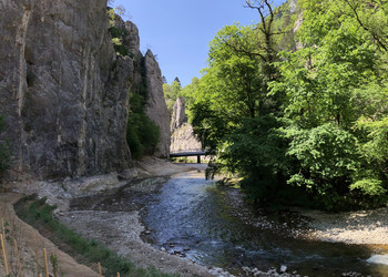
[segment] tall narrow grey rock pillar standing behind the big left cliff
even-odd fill
[[[147,101],[145,113],[160,127],[161,137],[156,146],[155,156],[170,156],[170,113],[163,93],[162,73],[155,57],[149,50],[144,57],[145,75],[147,82]]]

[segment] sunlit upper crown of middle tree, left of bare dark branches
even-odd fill
[[[213,110],[239,117],[264,112],[266,80],[264,63],[255,54],[256,38],[254,27],[226,25],[211,42],[203,85],[212,91]]]

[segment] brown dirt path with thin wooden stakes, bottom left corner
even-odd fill
[[[58,257],[59,264],[59,276],[84,276],[84,277],[94,277],[99,276],[91,268],[78,264],[72,257],[68,254],[61,252],[53,243],[51,243],[45,237],[41,236],[33,227],[22,222],[14,213],[13,204],[20,199],[21,195],[13,193],[4,193],[0,195],[0,207],[1,207],[1,218],[4,219],[6,229],[9,230],[9,236],[16,238],[20,259],[22,264],[23,276],[37,276],[37,266],[35,266],[35,249],[33,244],[33,234],[37,237],[37,246],[39,249],[39,263],[43,268],[44,258],[43,258],[43,248],[47,249],[48,258],[52,254],[55,254]],[[17,255],[13,250],[13,244],[10,240],[7,242],[7,257],[9,261],[9,268],[11,276],[21,276],[18,269]],[[0,261],[0,273],[4,273],[3,256],[1,255]],[[52,266],[49,261],[50,274],[52,274]],[[42,271],[41,271],[42,273]],[[0,276],[6,276],[0,274]]]

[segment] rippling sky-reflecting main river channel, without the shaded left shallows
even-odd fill
[[[206,181],[203,172],[173,176],[147,197],[144,239],[234,275],[243,275],[243,267],[266,271],[287,266],[287,271],[302,276],[388,276],[388,266],[367,263],[384,249],[289,238],[252,226],[234,216],[224,189]]]

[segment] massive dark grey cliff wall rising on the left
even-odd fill
[[[0,114],[13,177],[74,177],[131,166],[125,135],[130,91],[139,81],[136,27],[123,23],[133,54],[120,57],[106,0],[1,0],[0,13]],[[157,74],[149,75],[155,91]],[[160,90],[163,95],[162,84]],[[162,102],[150,109],[163,114]],[[169,129],[169,117],[156,124],[165,121]],[[169,145],[161,141],[161,156],[169,155]]]

